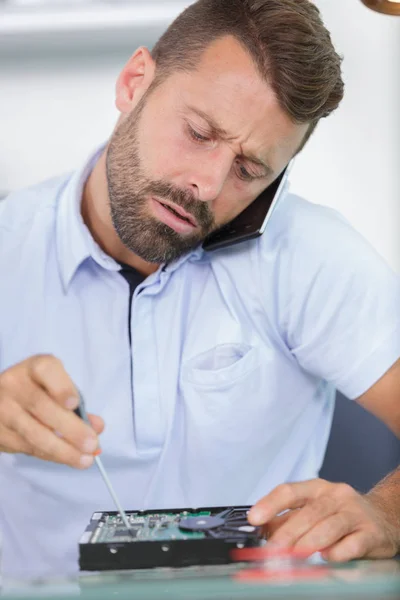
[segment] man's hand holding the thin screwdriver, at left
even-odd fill
[[[73,412],[78,404],[77,389],[54,356],[33,356],[0,373],[0,452],[90,467],[104,422],[89,415],[89,427]]]

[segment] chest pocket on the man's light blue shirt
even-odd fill
[[[185,429],[197,447],[224,444],[265,428],[272,351],[248,344],[221,344],[183,363],[180,380]]]

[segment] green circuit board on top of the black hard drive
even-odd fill
[[[177,513],[153,513],[143,515],[140,513],[127,513],[131,526],[130,532],[126,529],[119,515],[102,513],[98,519],[97,527],[93,531],[90,543],[109,542],[143,542],[143,541],[171,541],[203,539],[205,534],[201,531],[182,531],[179,521],[182,518],[209,516],[209,511]],[[94,515],[94,520],[96,516]]]

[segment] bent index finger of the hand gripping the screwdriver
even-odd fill
[[[68,409],[78,406],[78,390],[58,358],[51,355],[34,356],[29,359],[28,372],[31,379],[58,404]]]

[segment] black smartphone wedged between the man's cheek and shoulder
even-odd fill
[[[272,211],[283,196],[293,160],[257,198],[233,221],[211,233],[203,242],[204,250],[217,250],[245,242],[264,233]]]

